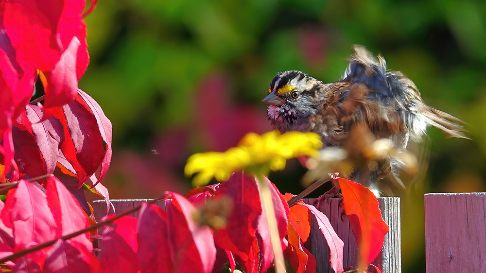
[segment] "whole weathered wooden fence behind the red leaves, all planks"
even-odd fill
[[[130,210],[147,200],[112,200],[117,213]],[[304,202],[312,204],[312,199]],[[379,198],[383,220],[390,231],[382,252],[373,262],[383,273],[401,272],[400,200]],[[96,219],[106,213],[104,201],[93,204]],[[165,208],[165,202],[156,205]],[[356,266],[358,246],[347,216],[342,214],[338,199],[322,202],[338,236],[344,241],[344,267]],[[110,210],[110,214],[113,210]],[[137,217],[138,212],[131,216]],[[316,226],[315,223],[312,226]],[[331,273],[329,248],[318,232],[311,229],[307,246],[317,260],[317,272]],[[427,273],[486,273],[486,193],[431,193],[425,195],[425,256]]]

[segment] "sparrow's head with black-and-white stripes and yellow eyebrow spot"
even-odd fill
[[[275,129],[306,131],[307,119],[317,112],[316,98],[322,83],[304,72],[279,72],[262,102],[268,104],[268,118]]]

